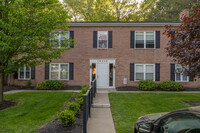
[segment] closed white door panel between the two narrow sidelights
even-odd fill
[[[108,63],[97,63],[97,88],[109,87]]]

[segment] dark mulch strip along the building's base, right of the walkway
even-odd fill
[[[116,88],[117,91],[141,91],[136,86],[122,86]],[[161,91],[161,90],[155,90],[155,91]],[[200,91],[199,88],[184,88],[183,91]]]

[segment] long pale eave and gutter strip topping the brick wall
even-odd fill
[[[69,24],[70,27],[127,27],[127,26],[144,26],[144,27],[162,27],[165,25],[179,26],[182,22],[71,22]]]

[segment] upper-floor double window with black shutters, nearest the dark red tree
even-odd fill
[[[136,32],[135,34],[136,48],[155,48],[155,32]]]

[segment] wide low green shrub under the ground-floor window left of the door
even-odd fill
[[[64,88],[64,83],[59,80],[46,80],[37,84],[36,88],[40,90],[61,90]]]

